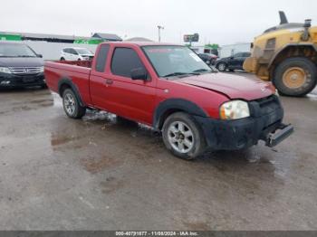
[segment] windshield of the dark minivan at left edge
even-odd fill
[[[35,52],[25,44],[1,43],[0,57],[37,57]]]

